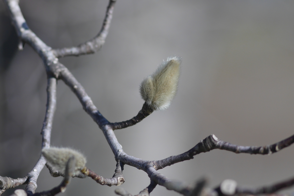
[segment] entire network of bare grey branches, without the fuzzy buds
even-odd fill
[[[91,170],[85,169],[84,173],[87,173],[88,176],[96,180],[100,184],[107,184],[107,185],[120,185],[124,182],[124,177],[122,175],[122,166],[124,164],[136,167],[145,171],[149,178],[151,179],[151,184],[141,191],[139,195],[149,195],[149,193],[154,189],[156,184],[162,185],[166,187],[168,190],[174,190],[179,192],[183,195],[196,195],[198,196],[201,190],[205,185],[205,180],[200,180],[196,185],[186,185],[183,182],[173,181],[168,179],[166,176],[157,172],[158,169],[162,169],[168,165],[172,165],[184,160],[189,160],[193,158],[193,156],[202,153],[208,152],[213,149],[221,149],[232,151],[235,153],[250,153],[250,154],[271,154],[281,149],[291,145],[294,142],[294,135],[280,141],[278,143],[268,145],[268,146],[237,146],[233,145],[224,141],[219,140],[215,135],[208,136],[204,140],[200,141],[196,146],[191,148],[189,151],[182,153],[177,156],[171,156],[163,160],[158,161],[146,161],[142,160],[130,155],[127,155],[120,143],[118,142],[113,130],[114,129],[122,129],[128,126],[134,125],[144,119],[146,116],[152,113],[152,109],[148,108],[146,104],[143,105],[142,110],[138,113],[137,116],[133,117],[128,121],[123,121],[119,123],[110,123],[103,115],[98,111],[96,106],[93,104],[91,98],[86,93],[83,86],[76,80],[76,78],[71,74],[71,72],[61,63],[59,63],[57,57],[64,57],[69,55],[82,55],[82,54],[90,54],[94,53],[95,51],[99,50],[101,46],[105,42],[105,38],[108,33],[110,21],[112,18],[113,7],[115,4],[115,0],[110,0],[109,5],[106,11],[106,16],[104,19],[103,26],[101,31],[98,35],[93,38],[92,40],[79,45],[78,47],[73,48],[64,48],[64,49],[57,49],[52,50],[51,47],[47,46],[40,38],[36,36],[26,24],[26,21],[21,13],[19,8],[18,0],[4,0],[8,6],[10,11],[10,15],[13,21],[13,24],[16,28],[18,36],[22,42],[26,42],[32,46],[32,48],[39,54],[39,56],[43,59],[44,65],[46,68],[47,76],[48,76],[48,86],[47,86],[47,107],[46,107],[46,115],[45,120],[42,128],[42,148],[47,148],[50,146],[50,135],[52,129],[52,122],[54,117],[54,111],[56,108],[56,79],[62,79],[66,85],[68,85],[74,94],[78,97],[79,101],[81,102],[83,109],[92,117],[92,119],[98,124],[99,128],[103,131],[103,134],[108,141],[111,150],[115,156],[117,161],[116,171],[113,175],[113,178],[106,179],[102,176],[97,175],[96,173],[92,172]],[[5,189],[3,187],[13,187],[18,185],[18,183],[28,183],[26,187],[26,193],[28,195],[32,195],[36,189],[36,180],[39,176],[40,171],[44,168],[46,161],[43,156],[41,156],[36,163],[35,167],[28,175],[21,179],[12,179],[15,180],[14,183],[8,184],[8,181],[11,178],[2,178],[2,190],[4,192]],[[3,180],[5,179],[5,180]],[[18,181],[18,182],[16,182]],[[280,187],[287,187],[292,185],[294,180],[288,180],[283,183],[279,183],[269,187],[262,187],[259,189],[254,190],[255,193],[260,194],[259,192],[265,193],[265,191],[276,191],[279,190]],[[64,182],[49,192],[42,192],[39,193],[41,195],[52,195],[58,192],[62,192],[64,187],[68,184],[69,178],[65,179]],[[236,191],[245,192],[242,189],[236,189]],[[252,190],[250,190],[252,191]],[[252,191],[252,192],[254,192]],[[250,193],[252,193],[250,192]],[[267,193],[267,192],[266,192]],[[129,193],[123,193],[125,195],[130,195]],[[17,194],[16,194],[17,195]]]

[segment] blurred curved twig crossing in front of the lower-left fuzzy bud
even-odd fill
[[[49,191],[35,193],[33,196],[54,196],[57,193],[64,192],[66,190],[66,186],[69,185],[69,183],[71,181],[71,176],[72,176],[72,174],[74,172],[74,168],[75,168],[75,161],[76,160],[75,160],[74,156],[69,158],[69,160],[67,161],[64,179],[62,180],[62,182],[60,183],[59,186],[54,187],[53,189],[51,189]]]

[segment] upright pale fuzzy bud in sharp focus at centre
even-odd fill
[[[170,106],[178,89],[181,62],[180,57],[168,57],[153,74],[141,82],[141,97],[154,110],[163,110]]]

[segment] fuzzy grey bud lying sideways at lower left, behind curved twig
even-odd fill
[[[75,171],[72,177],[86,178],[86,176],[80,172],[80,170],[85,167],[87,162],[86,157],[82,153],[76,150],[73,150],[71,148],[51,147],[51,148],[44,148],[42,150],[42,154],[47,160],[46,165],[49,168],[50,173],[57,172],[55,176],[65,175],[66,163],[69,160],[69,158],[74,156],[76,160],[75,161],[76,164],[75,164]]]

